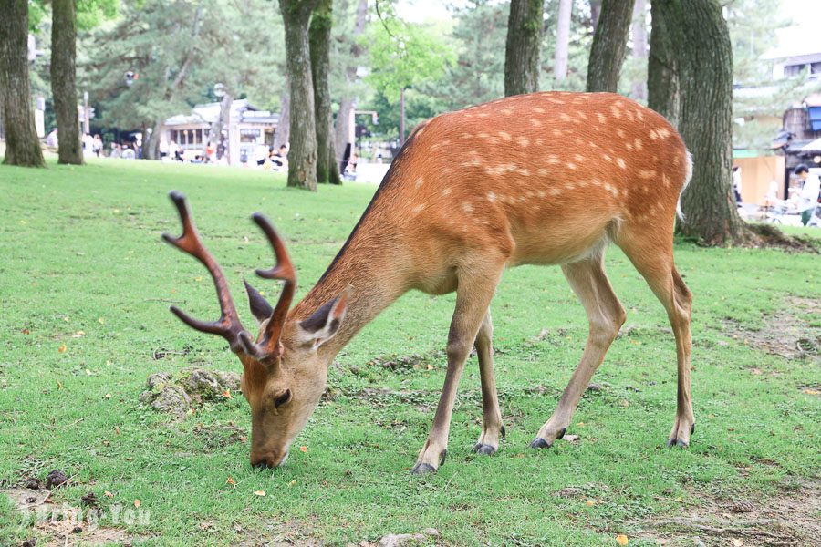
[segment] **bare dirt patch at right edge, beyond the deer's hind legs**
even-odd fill
[[[724,332],[733,338],[785,359],[818,359],[821,354],[821,328],[810,317],[821,315],[821,300],[789,296],[784,309],[764,315],[760,330],[745,329],[731,320],[724,321]]]

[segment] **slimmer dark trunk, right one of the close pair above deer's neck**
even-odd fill
[[[311,47],[311,77],[314,79],[314,101],[317,116],[317,181],[342,184],[334,147],[334,117],[328,86],[330,40],[333,26],[331,0],[320,0],[308,30]]]

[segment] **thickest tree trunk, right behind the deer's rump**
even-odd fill
[[[744,243],[749,232],[732,191],[733,47],[722,7],[717,0],[660,5],[667,28],[683,35],[671,43],[681,82],[679,130],[694,161],[679,229],[709,245]]]

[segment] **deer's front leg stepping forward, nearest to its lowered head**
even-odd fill
[[[462,376],[464,362],[471,353],[471,346],[479,332],[479,327],[487,315],[487,308],[494,296],[503,267],[504,263],[500,263],[492,273],[481,272],[475,267],[465,268],[458,274],[456,309],[453,312],[451,330],[448,334],[448,370],[445,373],[442,396],[439,398],[439,406],[433,417],[431,432],[411,473],[430,473],[444,463],[459,378]]]

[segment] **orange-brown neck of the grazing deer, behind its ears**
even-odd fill
[[[348,286],[353,294],[348,311],[336,336],[322,345],[319,352],[328,364],[359,330],[408,290],[403,279],[401,254],[397,253],[396,238],[385,232],[376,241],[357,237],[346,243],[325,274],[290,314],[301,321],[335,298]]]

